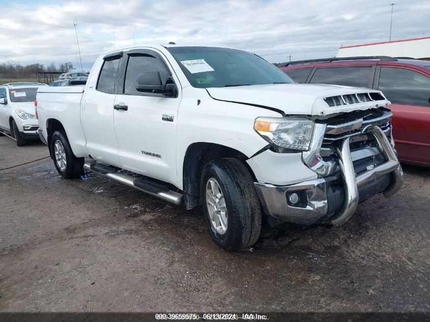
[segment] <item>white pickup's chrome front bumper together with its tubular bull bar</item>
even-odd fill
[[[355,213],[359,202],[380,192],[386,197],[396,193],[403,184],[403,171],[390,142],[378,126],[370,125],[365,132],[375,136],[384,163],[356,175],[350,152],[353,138],[347,137],[337,151],[340,171],[335,175],[288,186],[254,183],[264,211],[280,222],[340,225]],[[292,193],[299,195],[299,202],[290,202]]]

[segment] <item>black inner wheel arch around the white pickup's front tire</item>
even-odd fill
[[[255,179],[252,169],[245,162],[248,157],[242,152],[227,147],[226,145],[216,143],[191,143],[185,152],[182,167],[183,193],[186,209],[197,207],[201,203],[200,175],[205,164],[221,158],[235,158],[240,160],[248,168],[253,179]]]

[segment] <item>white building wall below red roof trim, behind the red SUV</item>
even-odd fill
[[[391,56],[391,57],[430,57],[430,37],[400,40],[385,43],[340,47],[336,57]]]

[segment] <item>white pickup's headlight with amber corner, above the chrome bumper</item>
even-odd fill
[[[308,151],[314,123],[301,118],[257,118],[254,129],[276,147]]]

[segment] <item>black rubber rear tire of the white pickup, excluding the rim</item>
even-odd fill
[[[57,164],[55,158],[55,143],[58,140],[61,142],[64,148],[66,166],[63,170]],[[58,173],[60,173],[61,176],[66,179],[80,178],[80,176],[83,174],[83,158],[76,158],[76,156],[73,154],[66,134],[60,131],[55,131],[52,134],[50,144],[52,151],[52,159],[54,161],[54,165]]]

